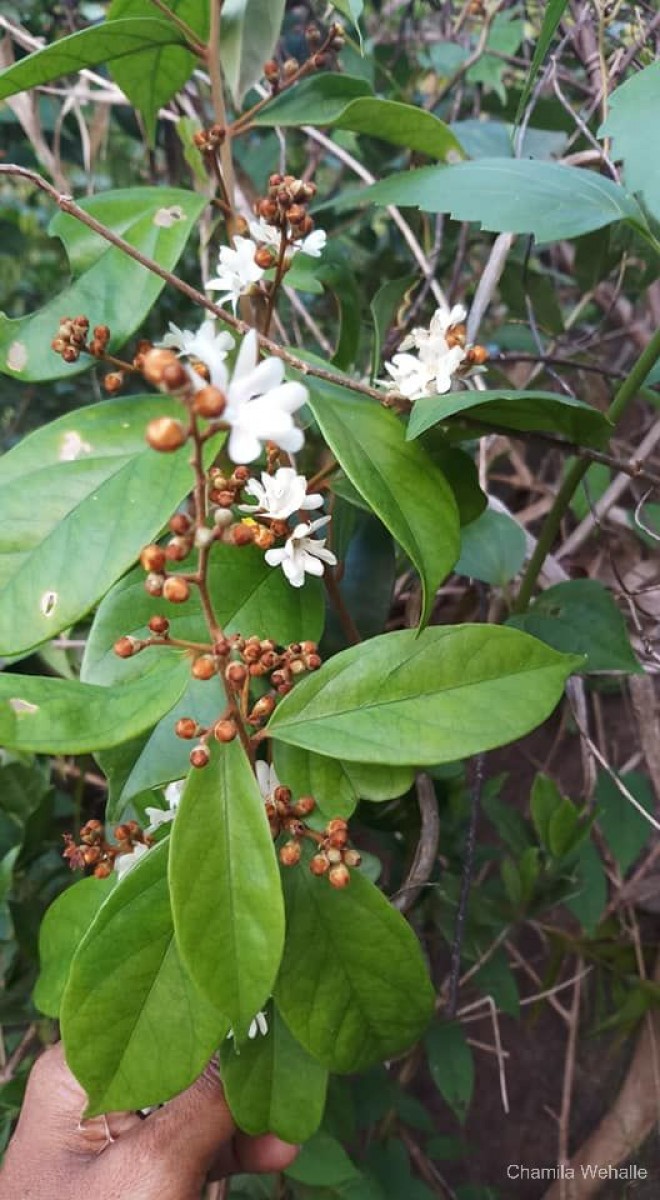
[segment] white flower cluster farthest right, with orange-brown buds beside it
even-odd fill
[[[449,312],[438,308],[428,329],[416,326],[401,343],[401,353],[385,362],[391,390],[407,400],[437,396],[451,391],[454,378],[464,379],[487,358],[482,346],[466,344],[467,311],[455,305]],[[416,354],[408,352],[416,350]]]

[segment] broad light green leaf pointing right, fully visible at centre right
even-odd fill
[[[350,762],[454,762],[540,725],[580,665],[504,628],[401,630],[343,650],[304,679],[268,732]]]

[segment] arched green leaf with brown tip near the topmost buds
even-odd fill
[[[431,158],[463,158],[463,148],[444,121],[425,108],[379,100],[364,79],[312,76],[276,96],[254,118],[254,125],[328,125],[367,133]]]

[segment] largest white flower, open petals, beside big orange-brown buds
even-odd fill
[[[292,413],[305,404],[307,389],[301,383],[283,382],[281,359],[257,362],[257,334],[251,329],[241,342],[232,380],[224,368],[211,378],[227,396],[222,419],[230,426],[227,452],[232,462],[253,462],[264,442],[275,442],[288,454],[295,454],[305,442]]]

